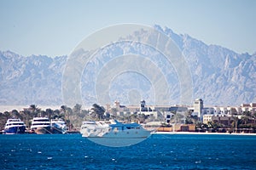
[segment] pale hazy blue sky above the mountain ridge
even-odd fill
[[[256,52],[254,0],[0,0],[0,50],[70,54],[84,37],[122,23],[158,24],[237,53]]]

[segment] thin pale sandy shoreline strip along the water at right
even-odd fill
[[[197,132],[155,132],[151,134],[210,134],[210,135],[249,135],[249,136],[256,136],[256,133],[197,133]]]

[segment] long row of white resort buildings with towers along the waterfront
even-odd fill
[[[109,106],[108,106],[109,108]],[[198,121],[219,122],[229,125],[233,121],[232,116],[241,119],[244,111],[256,112],[256,103],[241,104],[240,106],[207,106],[204,107],[202,99],[195,99],[192,106],[188,105],[146,105],[145,100],[141,100],[138,105],[120,105],[115,101],[113,108],[116,109],[117,116],[130,116],[132,114],[143,114],[152,121],[162,121],[166,123],[184,123],[185,115],[192,112],[191,116],[197,116]],[[111,110],[111,109],[110,109]],[[174,116],[178,116],[178,120]],[[180,115],[183,115],[181,118]]]

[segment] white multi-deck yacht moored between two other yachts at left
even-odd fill
[[[34,117],[30,129],[33,133],[38,134],[52,133],[49,118],[47,117]]]

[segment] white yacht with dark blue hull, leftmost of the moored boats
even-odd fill
[[[3,133],[5,134],[16,134],[16,133],[25,133],[26,125],[20,119],[8,119]]]

